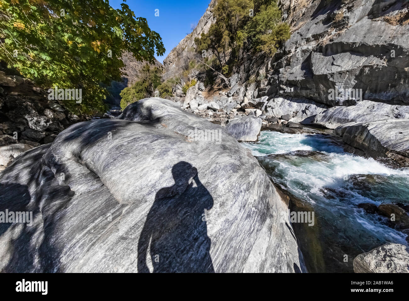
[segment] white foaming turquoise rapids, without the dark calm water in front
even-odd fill
[[[363,158],[344,152],[342,145],[331,136],[320,134],[262,131],[257,143],[243,143],[243,146],[251,149],[254,156],[289,154],[297,150],[322,153],[318,157],[314,154],[306,157],[290,154],[285,158],[264,157],[261,160],[264,166],[267,165],[271,167],[270,170],[274,170],[270,176],[275,183],[308,201],[313,207],[319,208],[321,214],[326,214],[327,220],[333,220],[335,228],[348,225],[352,228],[351,231],[370,231],[380,241],[407,244],[405,234],[389,228],[380,220],[383,217],[368,214],[357,208],[357,205],[360,203],[379,205],[383,201],[388,201],[389,194],[409,204],[408,168],[392,169],[373,158]],[[367,183],[364,184],[364,191],[361,191],[361,188],[355,188],[354,181],[348,180],[354,174],[381,175],[386,177],[387,183]],[[393,189],[396,191],[392,191]],[[353,237],[352,233],[349,235]]]

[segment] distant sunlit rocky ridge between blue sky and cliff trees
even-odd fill
[[[178,72],[184,70],[189,63],[188,57],[193,57],[194,51],[191,48],[195,44],[195,38],[200,37],[202,33],[209,31],[210,25],[215,21],[213,18],[213,8],[216,6],[216,0],[211,0],[209,7],[206,9],[205,14],[200,18],[198,25],[196,25],[193,32],[183,38],[179,44],[172,49],[169,55],[164,59],[164,75],[163,79],[168,79]]]

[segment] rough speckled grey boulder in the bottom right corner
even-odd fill
[[[387,243],[354,259],[355,273],[409,273],[409,249]]]

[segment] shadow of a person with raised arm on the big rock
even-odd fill
[[[138,242],[138,272],[149,272],[148,260],[154,273],[214,273],[205,219],[213,198],[191,164],[173,165],[172,175],[175,184],[156,193],[146,217]]]

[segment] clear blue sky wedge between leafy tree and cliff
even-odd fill
[[[113,8],[121,8],[123,2],[110,0],[109,3]],[[162,37],[166,52],[156,59],[163,63],[173,47],[192,32],[192,24],[196,26],[210,0],[127,0],[125,3],[136,17],[146,18],[149,27]],[[159,9],[159,17],[155,17],[155,9]]]

